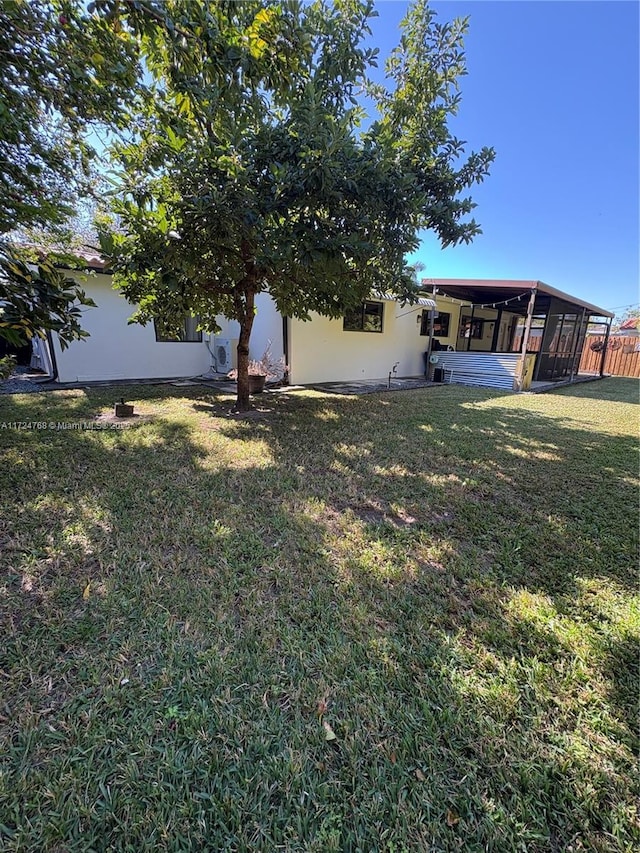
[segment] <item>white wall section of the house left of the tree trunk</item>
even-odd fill
[[[202,343],[158,343],[153,324],[127,325],[134,306],[113,290],[111,276],[73,274],[98,306],[83,309],[90,337],[62,351],[53,335],[60,382],[101,379],[164,379],[206,373],[210,356]],[[204,337],[204,336],[203,336]]]

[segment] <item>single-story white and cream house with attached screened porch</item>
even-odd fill
[[[89,338],[62,350],[55,335],[40,346],[34,366],[59,382],[173,379],[226,374],[235,366],[239,326],[219,318],[208,335],[188,318],[179,340],[153,324],[129,325],[132,306],[112,287],[104,262],[84,256],[91,275],[83,286],[96,303],[86,308]],[[71,273],[79,275],[78,273]],[[532,381],[574,378],[587,325],[612,314],[539,281],[423,280],[416,304],[372,296],[341,319],[312,314],[282,317],[268,293],[256,299],[250,357],[271,345],[283,356],[292,384],[416,377],[425,366],[445,381],[506,389]]]

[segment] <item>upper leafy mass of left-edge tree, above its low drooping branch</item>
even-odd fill
[[[64,224],[91,189],[88,129],[126,126],[141,68],[114,13],[0,3],[0,234]]]

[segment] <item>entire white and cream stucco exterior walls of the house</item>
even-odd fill
[[[80,274],[78,274],[80,276]],[[89,332],[86,341],[72,343],[64,352],[54,335],[54,353],[61,382],[114,379],[163,379],[198,376],[206,373],[212,358],[206,334],[201,343],[160,343],[153,324],[128,325],[131,306],[112,288],[111,276],[81,277],[97,307],[86,308],[82,325]],[[382,300],[372,300],[382,301]],[[290,380],[294,384],[383,379],[398,362],[397,376],[421,376],[423,353],[428,336],[420,334],[419,305],[401,306],[383,301],[383,331],[344,331],[343,321],[312,314],[310,322],[288,320]],[[460,346],[458,339],[460,305],[438,297],[438,310],[450,315],[449,334],[439,337],[442,346]],[[218,335],[237,341],[239,325],[219,317]],[[250,357],[259,359],[271,341],[274,358],[284,355],[282,317],[266,293],[256,297]]]

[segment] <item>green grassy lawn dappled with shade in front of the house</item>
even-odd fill
[[[637,383],[124,394],[0,429],[2,850],[638,849]]]

